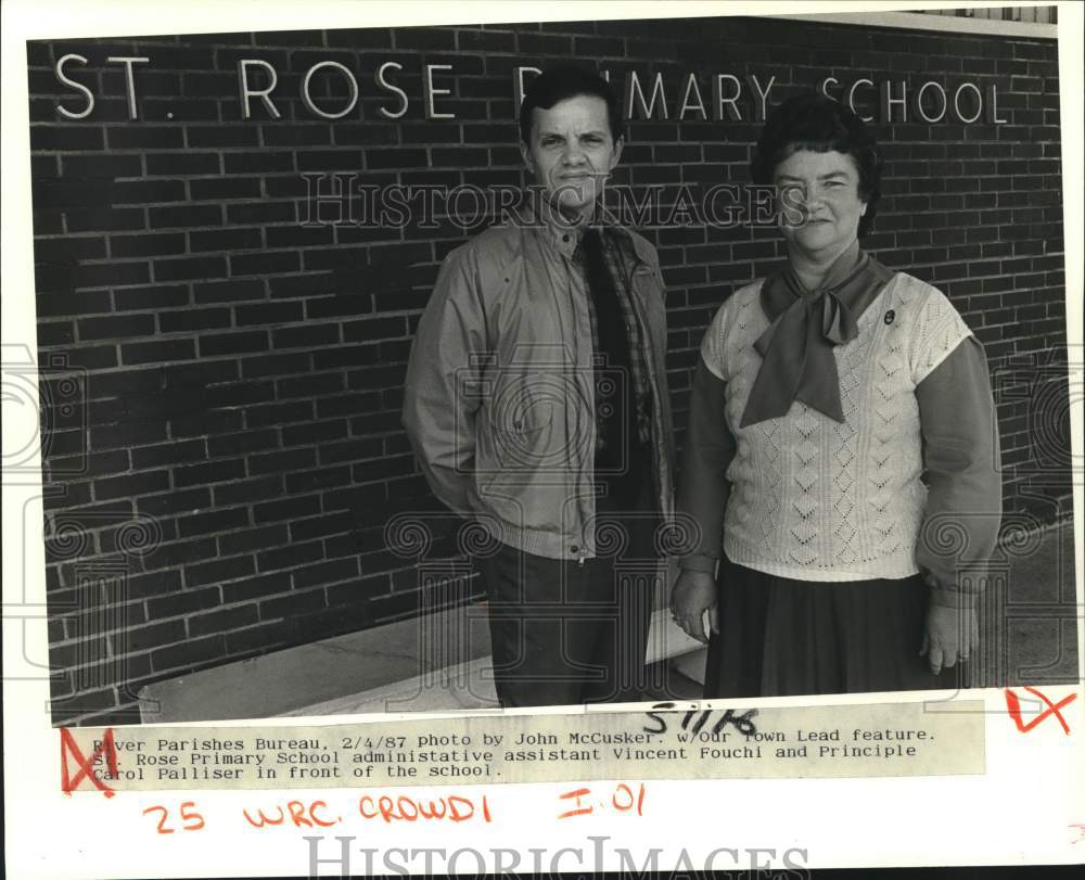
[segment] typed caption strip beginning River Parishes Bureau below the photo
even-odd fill
[[[944,776],[985,770],[982,703],[59,731],[69,790]]]

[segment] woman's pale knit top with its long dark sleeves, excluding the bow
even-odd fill
[[[740,426],[768,327],[761,286],[724,303],[701,345],[678,501],[701,544],[682,567],[711,571],[722,531],[732,562],[768,574],[922,572],[943,604],[978,591],[1001,487],[986,361],[960,315],[935,288],[893,276],[832,350],[842,422],[795,400]]]

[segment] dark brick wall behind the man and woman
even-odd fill
[[[97,97],[84,120],[56,109],[82,106],[52,73],[66,53],[90,62],[67,68]],[[136,69],[136,122],[110,55],[151,59]],[[258,102],[241,118],[241,58],[276,67],[281,119]],[[728,18],[34,42],[58,723],[135,720],[152,679],[419,613],[414,569],[384,531],[397,511],[435,507],[399,428],[401,383],[437,266],[465,233],[304,227],[302,175],[519,183],[512,71],[570,58],[615,82],[667,77],[672,118],[628,127],[616,179],[634,187],[748,179],[752,104],[743,122],[674,119],[689,72],[703,87],[775,75],[774,102],[826,76],[996,84],[1003,125],[876,123],[886,194],[867,245],[941,286],[985,344],[1008,508],[1029,522],[1069,509],[1052,41]],[[331,123],[297,97],[324,60],[361,84],[359,106]],[[373,88],[385,61],[403,65],[410,102],[394,122]],[[457,118],[424,117],[423,64],[454,65],[441,107]],[[331,76],[315,93],[329,109],[345,95]],[[744,227],[644,231],[668,284],[680,430],[714,309],[780,244]],[[438,537],[431,554],[451,549]]]

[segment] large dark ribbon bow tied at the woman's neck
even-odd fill
[[[739,426],[786,416],[795,400],[843,422],[832,349],[858,335],[856,316],[890,278],[884,266],[861,255],[846,278],[814,293],[790,269],[766,279],[761,306],[771,323],[754,342],[763,360]]]

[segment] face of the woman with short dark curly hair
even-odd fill
[[[867,205],[859,197],[855,160],[834,150],[797,150],[776,166],[780,228],[788,243],[812,257],[831,258],[858,237]]]

